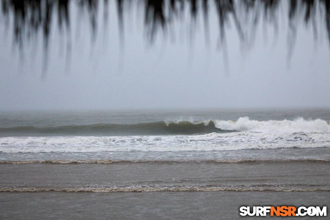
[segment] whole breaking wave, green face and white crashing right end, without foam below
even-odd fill
[[[316,119],[256,121],[248,117],[233,120],[151,122],[131,125],[94,124],[59,127],[13,127],[0,128],[0,136],[60,136],[60,135],[166,135],[205,134],[231,131],[254,132],[322,132],[330,133],[329,122]]]

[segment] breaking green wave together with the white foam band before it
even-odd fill
[[[5,136],[8,132],[12,135]],[[20,132],[24,135],[17,136]],[[43,134],[33,136],[35,132]],[[58,133],[64,135],[57,135]],[[73,133],[81,135],[68,136]],[[84,133],[95,135],[84,136]],[[99,135],[101,133],[106,135]],[[124,133],[128,134],[123,135]],[[237,121],[0,128],[0,153],[219,151],[320,147],[330,147],[330,125],[320,119],[255,121],[244,117]]]

